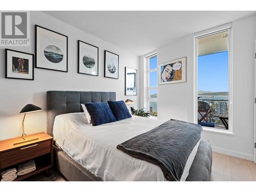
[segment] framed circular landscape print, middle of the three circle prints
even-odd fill
[[[78,73],[98,76],[99,48],[78,40]]]

